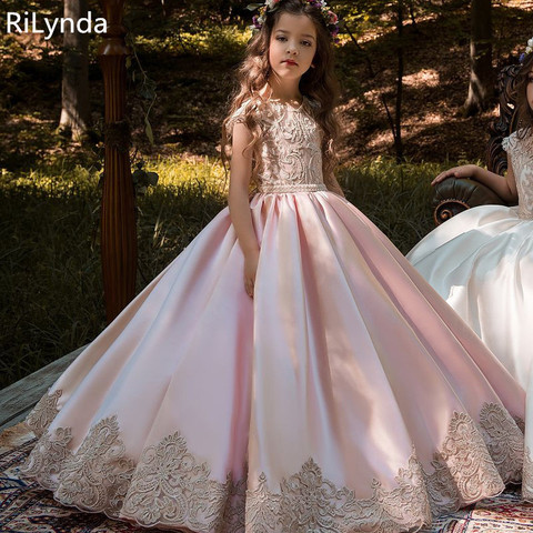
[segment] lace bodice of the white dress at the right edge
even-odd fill
[[[521,139],[516,132],[502,142],[513,165],[519,192],[519,217],[533,219],[533,137],[526,134]]]

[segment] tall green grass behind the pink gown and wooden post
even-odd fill
[[[225,205],[218,160],[147,162],[159,184],[139,198],[138,291]],[[346,197],[406,252],[432,228],[436,164],[368,161],[339,172]],[[60,358],[104,326],[99,171],[43,165],[0,174],[0,388]]]

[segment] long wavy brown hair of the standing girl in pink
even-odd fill
[[[260,144],[262,140],[260,113],[265,104],[261,91],[265,88],[272,68],[269,62],[269,50],[272,30],[283,13],[304,14],[309,17],[316,29],[316,51],[313,59],[314,68],[309,69],[300,80],[300,92],[312,105],[310,111],[322,130],[322,170],[324,183],[332,184],[333,170],[336,164],[335,143],[340,132],[335,107],[339,99],[339,83],[333,70],[333,47],[330,31],[320,8],[306,0],[281,0],[274,11],[268,11],[261,30],[250,40],[245,59],[238,69],[239,87],[232,97],[229,115],[222,124],[222,160],[231,159],[232,117],[244,102],[248,102],[240,120],[252,133],[252,141],[247,150],[252,149],[252,183],[255,183],[262,162]],[[257,184],[257,183],[255,183]]]

